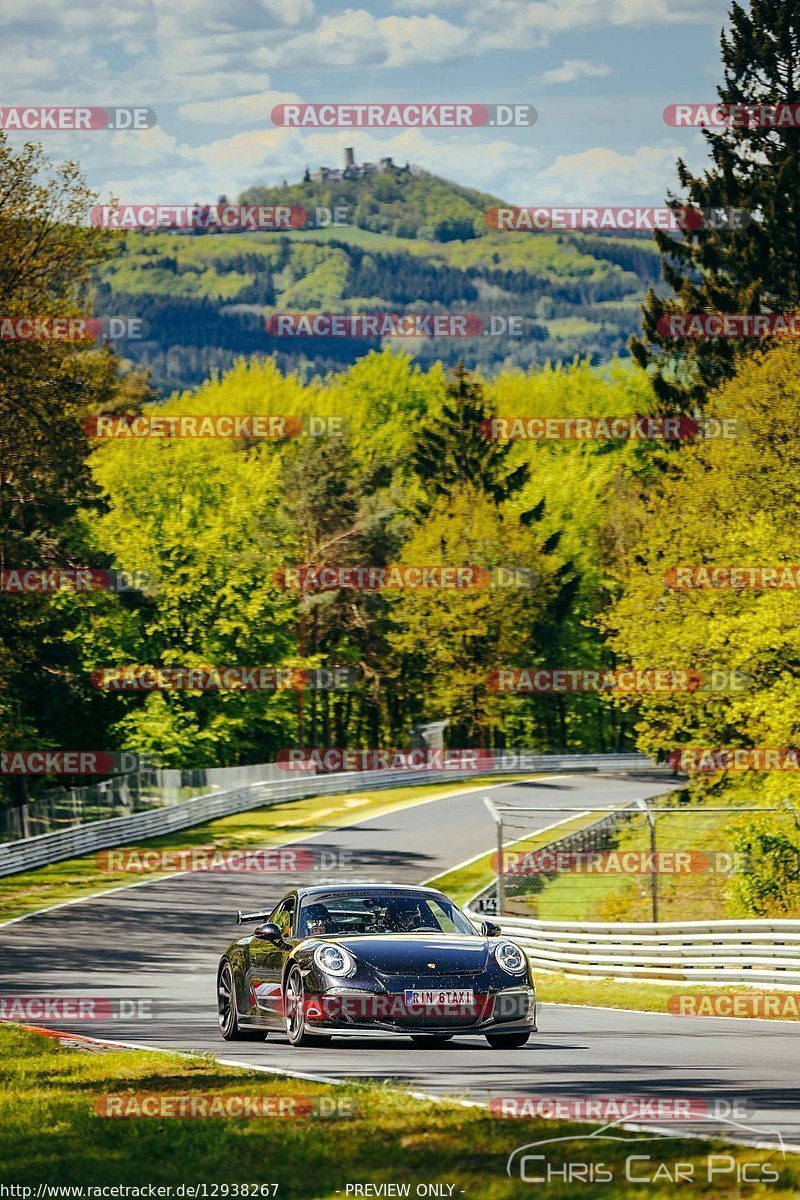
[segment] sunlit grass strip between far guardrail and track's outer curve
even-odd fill
[[[504,782],[530,776],[507,776]],[[421,787],[392,787],[374,792],[342,792],[337,796],[313,796],[303,800],[287,800],[269,808],[252,809],[234,816],[221,817],[192,829],[181,829],[162,838],[132,841],[126,848],[180,851],[190,848],[248,850],[276,846],[313,833],[354,824],[365,817],[429,799],[432,796],[456,796],[459,792],[497,784],[497,775],[464,784],[443,786],[441,782]],[[488,834],[488,817],[487,817]],[[74,900],[78,896],[124,887],[143,878],[163,877],[169,872],[138,870],[106,871],[97,854],[67,858],[61,863],[40,866],[19,875],[0,878],[0,922],[22,917],[40,908]]]

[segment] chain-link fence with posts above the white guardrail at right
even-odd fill
[[[800,917],[800,817],[790,804],[673,800],[575,810],[559,822],[561,836],[535,828],[547,809],[487,800],[495,881],[471,907],[557,924]]]

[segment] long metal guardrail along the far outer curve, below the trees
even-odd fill
[[[509,751],[511,760],[512,752]],[[98,850],[109,850],[148,838],[174,833],[176,829],[188,829],[192,826],[215,821],[217,817],[259,809],[282,800],[297,800],[307,796],[325,796],[338,792],[365,792],[384,787],[409,787],[421,784],[449,782],[503,774],[553,774],[560,772],[628,772],[654,770],[672,774],[672,768],[656,768],[645,755],[524,755],[521,766],[519,752],[515,752],[515,762],[503,770],[371,770],[336,772],[331,774],[294,774],[285,780],[264,780],[246,787],[228,791],[210,792],[207,796],[196,796],[191,800],[164,805],[146,812],[134,812],[130,816],[110,817],[104,821],[92,821],[73,826],[56,833],[44,833],[20,841],[0,842],[0,876],[16,875],[48,863],[59,863],[65,858],[90,854]],[[272,763],[267,764],[273,768]],[[231,768],[236,770],[237,768]]]

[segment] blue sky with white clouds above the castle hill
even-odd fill
[[[351,145],[518,205],[662,204],[679,156],[708,161],[663,109],[717,98],[726,18],[720,0],[0,0],[2,103],[154,109],[149,130],[37,134],[101,202],[233,199],[339,166]],[[539,119],[276,127],[273,106],[293,102],[528,103]]]

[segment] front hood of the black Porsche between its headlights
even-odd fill
[[[381,974],[474,974],[485,971],[489,949],[485,937],[446,934],[381,934],[329,938],[347,946],[359,960]],[[431,964],[435,964],[433,967]]]

